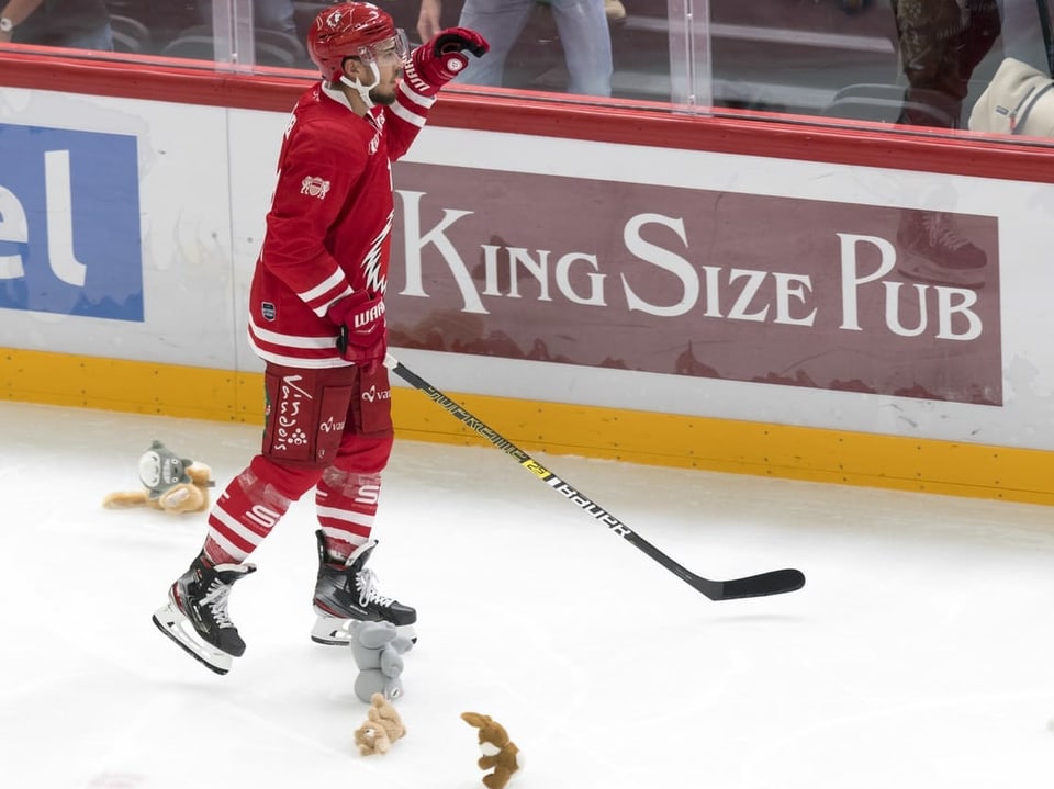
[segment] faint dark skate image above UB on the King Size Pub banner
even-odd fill
[[[983,288],[988,258],[958,234],[951,214],[908,212],[897,230],[898,269],[921,282],[958,288]]]

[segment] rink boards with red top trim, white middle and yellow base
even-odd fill
[[[258,421],[248,281],[303,83],[22,80],[0,93],[3,396]],[[466,95],[434,121],[393,172],[392,345],[525,449],[1054,501],[1034,151]],[[907,274],[930,214],[980,282]],[[405,437],[475,440],[419,393],[395,408]]]

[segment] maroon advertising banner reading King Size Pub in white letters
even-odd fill
[[[393,345],[1002,404],[996,217],[411,162],[396,191]]]

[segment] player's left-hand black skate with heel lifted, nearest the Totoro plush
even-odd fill
[[[154,624],[216,674],[231,670],[231,657],[245,653],[227,613],[234,582],[256,571],[254,564],[210,567],[198,556],[168,590],[168,604],[154,613]]]

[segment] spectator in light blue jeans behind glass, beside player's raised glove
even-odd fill
[[[568,92],[609,97],[612,34],[604,0],[548,0],[548,4],[568,64]],[[491,50],[485,58],[471,60],[457,81],[501,87],[508,54],[537,5],[538,0],[464,0],[458,25],[479,31]],[[439,31],[441,10],[442,0],[422,0],[417,19],[417,35],[422,41],[428,41]]]

